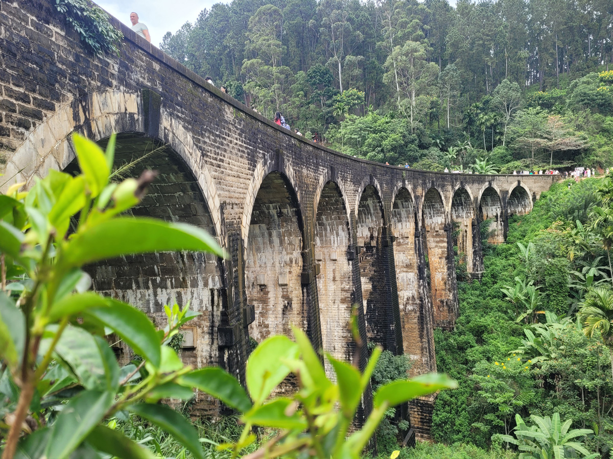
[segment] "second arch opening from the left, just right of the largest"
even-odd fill
[[[278,172],[268,174],[251,210],[245,247],[247,300],[255,321],[249,336],[261,342],[270,335],[291,335],[291,326],[307,329],[308,312],[302,273],[302,216],[294,190]]]

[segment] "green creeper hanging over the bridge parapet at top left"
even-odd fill
[[[88,0],[55,0],[55,7],[94,54],[119,56],[118,45],[123,34],[111,25],[109,15],[101,7]]]

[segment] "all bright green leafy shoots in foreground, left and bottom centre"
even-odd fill
[[[153,457],[144,441],[115,430],[116,419],[132,414],[166,432],[184,457],[204,458],[194,425],[158,403],[191,400],[197,389],[242,414],[238,438],[218,446],[233,458],[255,449],[254,427],[281,430],[261,446],[261,456],[358,458],[389,409],[455,387],[443,375],[407,380],[405,370],[401,380],[381,382],[364,425],[349,435],[380,348],[373,349],[363,372],[357,362],[326,356],[333,382],[304,332],[294,329],[295,341],[269,337],[247,360],[248,392],[221,368],[183,365],[177,354],[180,328],[197,313],[165,306],[167,325],[156,330],[140,310],[86,291],[89,277],[82,266],[133,253],[205,250],[223,256],[223,250],[199,228],[121,216],[140,202],[152,174],[112,183],[115,137],[106,152],[78,135],[73,140],[80,175],[51,171],[29,192],[19,192],[23,184],[17,184],[0,196],[3,457]],[[357,330],[355,315],[353,320]],[[142,357],[138,366],[120,367],[105,340],[109,333]],[[294,393],[272,397],[289,375],[297,382]],[[162,453],[159,442],[152,443]]]

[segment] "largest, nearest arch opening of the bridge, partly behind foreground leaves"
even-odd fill
[[[104,149],[108,141],[106,138],[98,144]],[[131,168],[124,167],[137,159],[141,160]],[[158,171],[147,195],[129,214],[191,223],[217,236],[196,177],[172,148],[137,133],[121,133],[116,137],[114,168],[123,170],[117,181],[138,177],[145,169]],[[78,173],[77,160],[64,171]],[[196,329],[194,346],[183,349],[182,359],[196,368],[221,364],[216,327],[223,316],[224,280],[221,261],[215,255],[162,252],[122,256],[88,266],[87,270],[96,291],[140,308],[158,327],[166,325],[164,305],[176,302],[185,307],[189,302],[192,310],[202,315],[189,322]],[[126,362],[131,359],[127,348],[119,357]],[[200,408],[205,409],[197,404],[196,410]]]

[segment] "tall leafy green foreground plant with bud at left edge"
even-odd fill
[[[2,278],[9,282],[0,292],[0,352],[6,362],[0,409],[12,419],[1,427],[4,457],[18,451],[61,458],[83,449],[150,457],[102,426],[124,411],[163,425],[194,457],[202,457],[185,418],[156,405],[164,397],[192,397],[194,384],[181,379],[191,377],[192,369],[166,343],[196,314],[166,307],[168,324],[158,332],[143,312],[86,292],[89,277],[82,266],[154,250],[223,252],[197,228],[118,216],[140,202],[150,177],[109,182],[114,137],[106,152],[77,135],[74,144],[82,174],[51,171],[27,193],[17,184],[0,196]],[[68,233],[75,214],[78,223]],[[120,368],[105,330],[143,357],[138,367]],[[22,436],[26,419],[36,419],[37,428]]]

